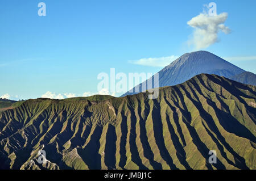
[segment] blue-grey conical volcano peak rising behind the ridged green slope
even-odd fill
[[[201,73],[216,74],[229,78],[243,72],[245,70],[207,51],[185,53],[159,71],[159,87],[174,86]],[[152,80],[154,80],[154,76]],[[139,92],[142,92],[142,84],[135,87],[139,87]],[[122,96],[137,94],[135,87],[133,93],[126,92]]]

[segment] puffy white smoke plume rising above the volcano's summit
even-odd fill
[[[193,45],[196,50],[207,48],[218,41],[218,32],[230,33],[230,29],[224,25],[228,13],[222,12],[216,16],[201,13],[187,22],[189,26],[195,28],[192,39],[188,40],[189,45]]]

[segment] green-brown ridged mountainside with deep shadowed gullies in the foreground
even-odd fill
[[[0,169],[256,169],[255,123],[256,86],[209,74],[158,99],[30,99],[0,112]]]

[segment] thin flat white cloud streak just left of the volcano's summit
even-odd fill
[[[141,58],[139,60],[129,60],[131,64],[146,65],[146,66],[156,66],[164,67],[171,64],[172,61],[179,58],[178,56],[168,56],[168,57],[158,57],[158,58]]]

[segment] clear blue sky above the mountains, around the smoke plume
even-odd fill
[[[38,16],[38,3],[46,16]],[[0,96],[39,98],[46,92],[97,92],[101,72],[151,72],[142,58],[178,57],[193,28],[187,24],[215,2],[228,13],[218,42],[203,50],[256,73],[256,1],[5,0],[0,2]],[[171,63],[171,62],[170,62]]]

